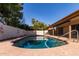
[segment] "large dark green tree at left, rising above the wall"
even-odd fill
[[[20,3],[0,4],[1,20],[5,21],[7,25],[18,27],[23,17],[22,5]]]

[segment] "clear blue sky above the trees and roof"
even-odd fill
[[[23,5],[25,23],[31,25],[32,18],[45,24],[53,24],[70,13],[79,10],[79,4],[68,3],[25,3]]]

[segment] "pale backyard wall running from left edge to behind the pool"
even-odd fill
[[[23,29],[19,29],[12,26],[3,25],[0,23],[0,40],[5,40],[8,38],[14,38],[19,36],[33,36],[33,35],[44,35],[47,33],[47,30],[45,31],[25,31]]]

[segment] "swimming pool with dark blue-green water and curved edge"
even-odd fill
[[[31,36],[24,37],[20,40],[15,41],[13,46],[29,49],[43,49],[54,48],[65,44],[65,41],[61,41],[55,38],[48,38],[44,36]]]

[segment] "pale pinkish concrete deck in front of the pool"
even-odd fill
[[[0,56],[79,56],[79,42],[46,49],[24,49],[12,46],[11,40],[0,42]]]

